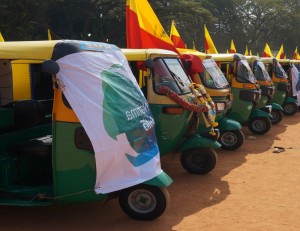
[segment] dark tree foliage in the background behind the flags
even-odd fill
[[[169,33],[171,21],[188,47],[203,50],[206,24],[219,52],[233,39],[261,54],[284,44],[288,56],[299,46],[299,0],[149,0]],[[1,0],[0,32],[6,41],[81,39],[126,46],[125,0]]]

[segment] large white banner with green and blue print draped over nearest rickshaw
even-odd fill
[[[63,93],[93,145],[96,193],[160,174],[154,120],[123,53],[79,52],[57,63]]]

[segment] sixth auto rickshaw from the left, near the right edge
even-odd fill
[[[269,57],[263,57],[261,60],[265,64],[275,86],[275,93],[271,103],[281,105],[285,115],[295,114],[298,111],[297,100],[289,95],[291,84],[289,83],[288,74],[281,65],[281,63],[285,63],[285,68],[288,71],[290,67],[289,60],[280,59],[279,61],[276,58]]]

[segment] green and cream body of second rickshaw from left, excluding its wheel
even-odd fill
[[[152,59],[154,64],[156,65],[154,68],[154,74],[159,76],[167,75],[162,65],[163,62],[167,62],[166,60],[177,60],[178,55],[171,51],[166,51],[163,49],[122,49],[127,60],[129,61],[133,73],[135,76],[139,76],[140,87],[146,88],[145,95],[147,95],[147,100],[149,102],[151,112],[156,121],[156,134],[158,145],[160,147],[160,154],[162,156],[176,152],[179,148],[184,145],[185,142],[188,142],[192,145],[184,145],[184,149],[182,147],[180,150],[185,150],[189,148],[196,147],[214,147],[219,148],[220,144],[215,140],[206,139],[205,137],[198,136],[195,134],[198,129],[199,123],[201,124],[201,115],[197,117],[194,112],[190,110],[184,109],[182,106],[179,106],[176,102],[171,100],[159,93],[158,85],[161,84],[158,78],[152,76],[149,68],[145,69],[143,72],[143,76],[140,74],[141,67],[137,67],[136,65],[140,65],[141,62],[146,61],[147,59]],[[176,63],[177,63],[176,61]],[[171,63],[171,62],[170,62]],[[175,68],[175,61],[173,63]],[[179,65],[178,65],[179,66]],[[180,64],[181,67],[181,64]],[[182,68],[175,68],[172,70],[174,73],[178,74],[184,72]],[[184,76],[186,74],[178,74],[179,76]],[[184,80],[186,84],[190,84],[190,80],[187,77]],[[171,86],[174,80],[165,81],[164,85]],[[172,86],[171,86],[172,87]],[[180,94],[180,93],[179,93]],[[187,90],[186,93],[180,94],[186,101],[192,101],[194,96],[190,90]],[[194,137],[195,136],[195,137]],[[189,139],[197,139],[199,140],[198,144],[196,142],[190,143]]]

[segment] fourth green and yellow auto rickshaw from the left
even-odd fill
[[[244,55],[212,54],[231,85],[233,104],[228,117],[247,125],[254,134],[265,134],[272,126],[269,111],[257,109],[261,90]]]

